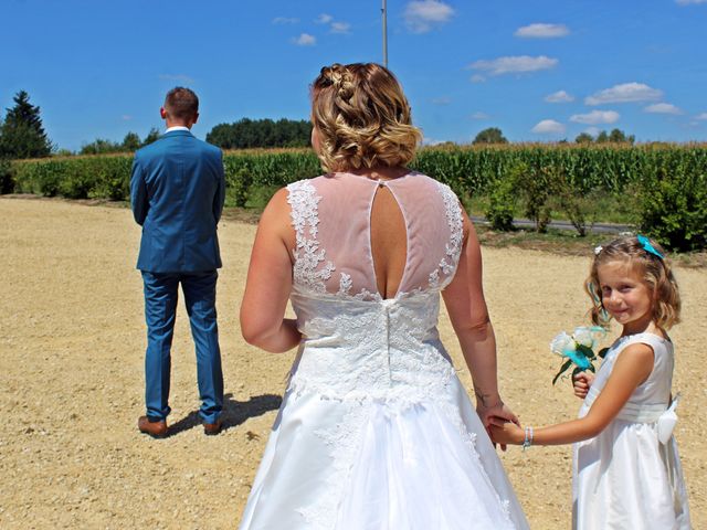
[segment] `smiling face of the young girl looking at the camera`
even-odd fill
[[[644,331],[653,320],[653,292],[643,277],[624,262],[597,268],[604,309],[625,333]]]

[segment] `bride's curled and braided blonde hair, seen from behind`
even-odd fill
[[[404,166],[422,139],[398,80],[374,63],[323,67],[312,84],[312,121],[326,171]]]

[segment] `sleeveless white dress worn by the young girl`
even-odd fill
[[[573,447],[572,527],[577,530],[690,528],[675,437],[671,435],[666,443],[658,439],[658,423],[669,414],[673,343],[653,333],[616,340],[597,372],[579,416],[589,412],[616,358],[636,342],[653,348],[651,375],[599,436]]]

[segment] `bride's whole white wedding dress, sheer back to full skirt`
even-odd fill
[[[390,299],[370,245],[379,187],[408,234]],[[436,330],[462,247],[457,198],[420,173],[335,173],[288,192],[303,342],[240,528],[528,528]]]

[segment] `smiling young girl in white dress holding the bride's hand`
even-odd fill
[[[585,394],[579,418],[535,430],[498,421],[492,437],[524,447],[574,443],[577,530],[687,530],[669,409],[674,358],[665,330],[680,309],[671,265],[647,237],[621,237],[597,248],[587,290],[594,324],[613,318],[623,330],[597,377],[576,378],[576,394]]]

